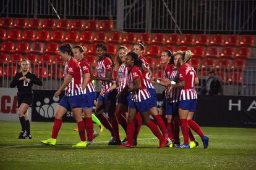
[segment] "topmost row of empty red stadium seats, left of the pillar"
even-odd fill
[[[0,28],[48,30],[113,30],[113,20],[72,20],[54,18],[0,18]]]

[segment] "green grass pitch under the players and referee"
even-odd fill
[[[108,130],[95,144],[72,148],[79,142],[75,123],[62,123],[55,147],[40,144],[51,137],[53,123],[31,124],[32,139],[17,139],[19,122],[0,121],[1,169],[256,169],[256,129],[203,127],[210,137],[209,148],[195,136],[199,147],[159,149],[158,140],[142,126],[136,148],[108,146]],[[100,131],[95,125],[95,129]],[[124,137],[124,132],[121,131]]]

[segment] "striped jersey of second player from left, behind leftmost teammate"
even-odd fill
[[[87,87],[85,88],[85,90],[83,91],[84,94],[88,93],[88,92],[95,92],[95,87],[92,83],[92,73],[91,73],[91,70],[90,70],[90,64],[85,61],[85,59],[82,59],[80,60],[79,62],[79,65],[80,65],[80,74],[81,74],[81,77],[82,77],[82,85],[83,85],[83,81],[85,80],[85,73],[89,73],[90,75],[90,80],[87,84]]]

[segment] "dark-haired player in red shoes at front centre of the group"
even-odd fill
[[[128,82],[129,88],[125,87],[117,95],[117,97],[123,94],[132,92],[128,107],[128,125],[127,125],[127,144],[119,145],[119,147],[134,147],[134,118],[139,111],[142,115],[144,123],[151,129],[153,134],[160,140],[160,148],[165,147],[168,144],[158,127],[153,121],[150,120],[150,94],[147,87],[144,84],[144,78],[140,68],[142,67],[142,61],[138,58],[135,52],[129,52],[126,55],[126,65],[129,67]]]

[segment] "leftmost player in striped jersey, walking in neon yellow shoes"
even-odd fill
[[[61,85],[61,87],[59,87],[59,90],[55,92],[54,96],[59,97],[61,91],[64,89],[65,95],[62,97],[57,108],[51,138],[41,140],[40,142],[46,145],[56,145],[57,136],[62,124],[62,117],[66,114],[67,109],[70,107],[74,113],[75,121],[77,121],[79,136],[81,139],[81,142],[73,145],[72,147],[87,147],[85,124],[82,119],[82,106],[84,98],[79,63],[74,59],[74,54],[69,44],[60,46],[58,53],[61,56],[61,59],[66,62],[64,68],[65,79],[64,83]]]

